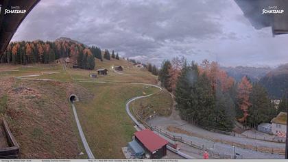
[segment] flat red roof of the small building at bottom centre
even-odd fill
[[[141,143],[147,148],[150,152],[154,152],[155,150],[162,148],[168,141],[163,139],[162,137],[156,135],[154,132],[149,129],[145,129],[143,131],[139,131],[134,133],[134,135],[141,141]]]

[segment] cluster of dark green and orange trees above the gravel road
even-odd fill
[[[177,57],[165,60],[159,80],[176,96],[181,118],[200,126],[231,131],[237,120],[256,127],[277,113],[264,87],[245,76],[235,81],[217,62],[204,60],[198,65]]]

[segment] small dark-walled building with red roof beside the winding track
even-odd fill
[[[145,148],[151,159],[160,159],[167,154],[168,141],[156,135],[153,131],[145,129],[134,133],[135,140]]]

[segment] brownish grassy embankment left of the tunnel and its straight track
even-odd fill
[[[92,97],[80,85],[52,81],[1,78],[6,96],[3,116],[21,146],[23,159],[78,159],[84,152],[78,139],[69,94]],[[0,114],[1,116],[1,114]]]

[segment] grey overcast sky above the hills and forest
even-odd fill
[[[254,29],[230,0],[41,0],[12,41],[61,36],[158,66],[177,55],[223,66],[288,63],[288,34]]]

